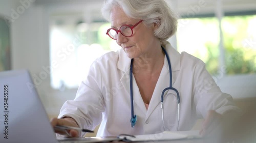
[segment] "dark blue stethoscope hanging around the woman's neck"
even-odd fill
[[[162,47],[162,46],[161,46]],[[178,112],[178,115],[177,115],[177,126],[176,126],[176,131],[178,130],[178,127],[179,127],[179,121],[180,121],[180,95],[179,95],[179,92],[177,89],[173,88],[172,87],[172,67],[170,66],[170,59],[169,59],[169,56],[166,52],[166,50],[162,47],[162,50],[164,51],[165,55],[166,55],[166,58],[167,58],[167,61],[168,61],[168,65],[169,65],[169,87],[165,88],[163,91],[162,91],[162,95],[161,95],[161,111],[162,111],[162,122],[163,122],[163,129],[165,130],[165,125],[164,125],[164,113],[163,113],[163,96],[164,96],[164,93],[165,91],[167,90],[173,90],[176,92],[177,94],[177,112]],[[133,105],[133,59],[131,60],[131,69],[130,69],[130,96],[131,96],[131,125],[132,127],[135,126],[136,124],[136,121],[137,121],[137,116],[134,115],[134,105]]]

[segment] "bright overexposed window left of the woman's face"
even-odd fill
[[[85,23],[80,17],[79,14],[51,17],[51,86],[54,89],[77,88],[94,60],[119,48],[115,40],[105,35],[110,23]]]

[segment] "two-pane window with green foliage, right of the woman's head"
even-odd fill
[[[210,74],[256,73],[256,15],[225,16],[222,19],[225,66],[220,67],[220,31],[218,19],[179,19],[177,49],[186,51],[206,64]]]

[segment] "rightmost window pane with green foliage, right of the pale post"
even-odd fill
[[[222,20],[227,74],[256,73],[256,15]]]

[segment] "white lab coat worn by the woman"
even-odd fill
[[[221,114],[238,109],[232,97],[221,92],[201,60],[186,52],[179,53],[170,44],[165,49],[172,65],[172,84],[179,91],[181,100],[178,130],[190,130],[210,109]],[[160,97],[163,89],[169,87],[166,56],[147,110],[133,77],[134,114],[137,115],[134,128],[130,123],[130,64],[131,59],[122,49],[97,59],[88,77],[80,84],[75,99],[63,104],[59,118],[72,117],[80,127],[92,130],[101,123],[97,136],[162,132]],[[176,130],[177,94],[174,91],[164,95],[164,122],[166,130]]]

